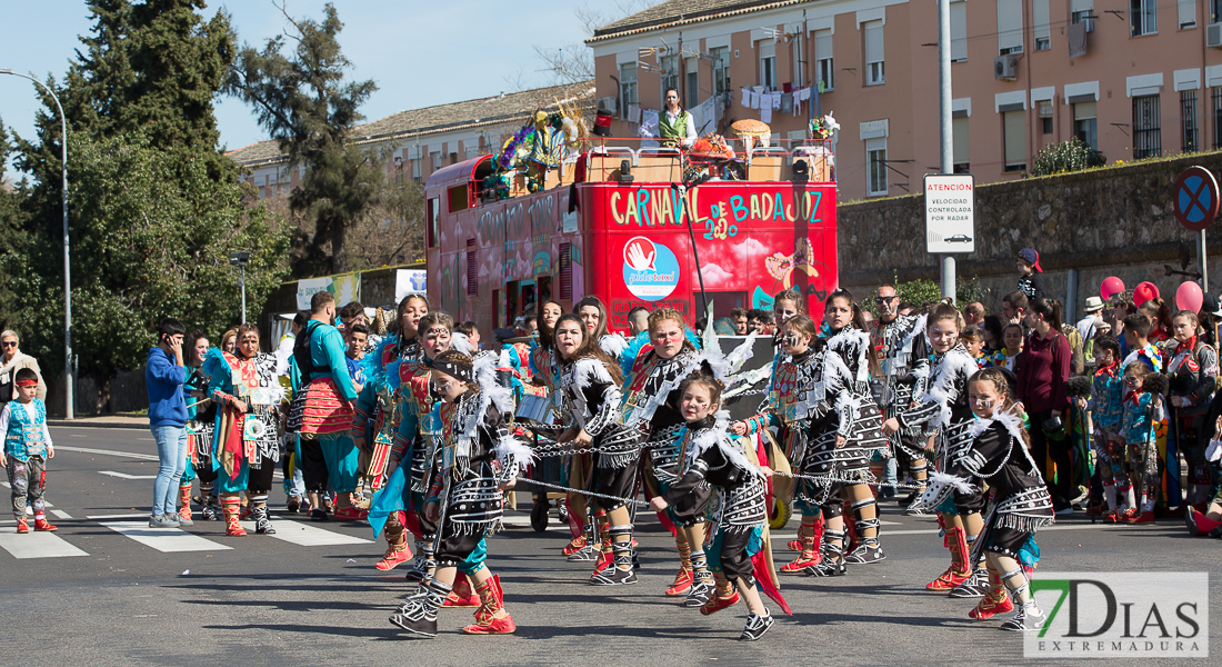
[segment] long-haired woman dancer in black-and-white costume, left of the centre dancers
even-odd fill
[[[590,335],[582,318],[565,315],[556,321],[555,346],[560,356],[556,387],[563,394],[565,417],[571,426],[556,438],[594,454],[589,486],[598,496],[596,515],[606,516],[602,554],[590,584],[635,584],[632,567],[632,515],[622,499],[635,494],[640,432],[620,423],[620,368]],[[580,452],[577,452],[580,453]]]

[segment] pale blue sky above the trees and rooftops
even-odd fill
[[[574,10],[587,0],[334,0],[343,21],[340,45],[352,61],[349,76],[374,80],[379,91],[365,104],[376,120],[404,109],[458,102],[552,83],[534,45],[580,42],[585,34]],[[287,0],[295,17],[321,18],[323,0]],[[271,0],[210,1],[207,17],[225,9],[238,40],[254,47],[286,29]],[[90,21],[79,0],[0,0],[0,69],[61,77],[77,35]],[[34,84],[0,76],[0,119],[23,137],[34,136]],[[221,143],[241,148],[266,138],[251,109],[233,98],[218,99]]]

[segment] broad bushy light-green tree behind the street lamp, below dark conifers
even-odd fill
[[[73,348],[81,372],[106,378],[144,361],[158,319],[219,334],[238,317],[241,294],[229,252],[249,250],[247,299],[259,305],[286,273],[287,234],[273,234],[264,208],[244,206],[242,186],[218,182],[197,153],[150,140],[68,140],[73,239]],[[62,349],[57,273],[29,270],[23,248],[0,258],[13,281],[6,315],[34,323],[39,352]],[[24,344],[23,344],[24,346]]]

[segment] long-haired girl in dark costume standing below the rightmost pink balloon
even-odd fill
[[[1212,345],[1196,335],[1198,319],[1193,311],[1179,311],[1171,319],[1174,340],[1168,341],[1171,361],[1167,379],[1171,383],[1172,423],[1176,425],[1176,448],[1188,461],[1187,504],[1206,502],[1211,475],[1205,461],[1209,434],[1201,438],[1205,414],[1213,400],[1218,377],[1218,354]],[[1212,425],[1211,425],[1212,426]],[[1179,504],[1179,455],[1167,452],[1167,505]]]

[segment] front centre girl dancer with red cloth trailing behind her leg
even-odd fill
[[[727,432],[728,412],[721,408],[721,383],[706,377],[692,377],[679,386],[679,409],[687,421],[684,458],[679,479],[661,496],[650,501],[650,509],[661,512],[672,507],[675,515],[701,518],[712,508],[714,527],[710,554],[715,554],[722,575],[733,584],[736,592],[709,598],[700,613],[709,616],[732,607],[739,597],[747,600],[747,625],[739,639],[755,641],[772,627],[774,619],[760,598],[756,579],[789,613],[780,596],[771,572],[765,480],[771,474],[766,466],[749,456],[750,441]],[[689,540],[695,540],[689,535]],[[765,563],[765,559],[767,561]]]

